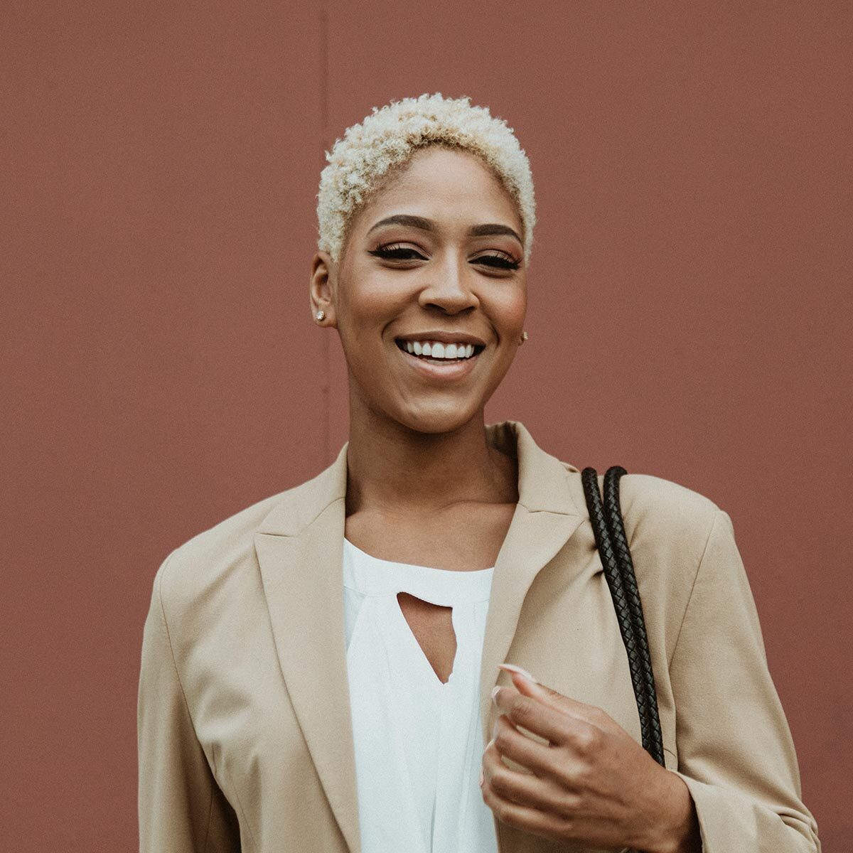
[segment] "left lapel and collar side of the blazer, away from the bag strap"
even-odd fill
[[[346,448],[255,534],[281,674],[347,846],[360,853],[344,630]]]

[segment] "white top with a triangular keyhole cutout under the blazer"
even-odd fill
[[[479,674],[493,572],[379,560],[344,539],[362,853],[497,853],[479,788]],[[456,658],[446,684],[409,628],[398,592],[453,608]]]

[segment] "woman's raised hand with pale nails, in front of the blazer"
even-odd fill
[[[514,687],[496,688],[493,696],[501,714],[483,752],[483,799],[498,819],[582,846],[681,850],[695,828],[684,781],[606,711],[510,675]]]

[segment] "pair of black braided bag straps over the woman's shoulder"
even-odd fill
[[[631,683],[640,714],[642,745],[659,764],[664,764],[664,742],[660,728],[658,698],[654,689],[652,659],[646,623],[642,614],[634,564],[619,509],[619,478],[628,473],[614,465],[604,475],[604,502],[598,488],[598,473],[586,467],[581,473],[595,545],[604,566],[607,586],[616,610],[619,631],[628,654]]]

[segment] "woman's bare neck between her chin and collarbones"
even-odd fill
[[[418,432],[362,411],[347,447],[346,514],[436,513],[460,503],[518,500],[514,459],[491,446],[484,412],[450,432]]]

